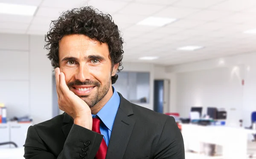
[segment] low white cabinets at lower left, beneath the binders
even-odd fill
[[[32,123],[10,122],[0,124],[0,143],[14,142],[17,147],[23,147],[26,140],[26,133]],[[14,148],[15,145],[2,145],[0,148]]]

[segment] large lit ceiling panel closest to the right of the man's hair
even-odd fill
[[[137,25],[145,26],[164,26],[169,23],[175,22],[177,19],[168,17],[147,17],[146,19],[137,23]]]

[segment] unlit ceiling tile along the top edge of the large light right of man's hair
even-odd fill
[[[200,9],[189,9],[189,8],[178,8],[178,7],[168,7],[166,9],[161,10],[154,16],[158,17],[170,17],[170,18],[183,18],[189,14],[199,12]]]

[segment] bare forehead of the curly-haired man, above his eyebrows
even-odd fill
[[[108,44],[100,43],[86,35],[65,35],[59,42],[59,58],[73,56],[84,58],[88,55],[109,56]]]

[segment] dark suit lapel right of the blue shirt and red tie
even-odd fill
[[[123,98],[121,94],[119,96],[120,105],[113,124],[106,159],[123,158],[135,124],[135,121],[129,117],[133,115],[131,103]]]

